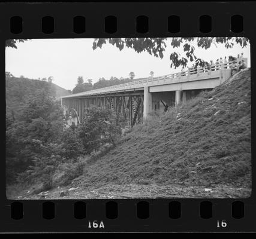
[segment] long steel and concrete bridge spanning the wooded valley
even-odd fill
[[[239,59],[241,60],[241,59]],[[247,59],[243,58],[247,65]],[[61,97],[61,105],[75,109],[83,121],[86,108],[91,105],[111,108],[122,115],[131,127],[143,122],[154,110],[167,111],[181,101],[191,99],[202,90],[210,90],[230,78],[232,65],[221,63],[208,68],[189,69],[170,75],[140,78],[132,82]]]

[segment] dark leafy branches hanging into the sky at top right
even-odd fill
[[[167,38],[95,38],[92,48],[95,50],[102,47],[109,42],[116,45],[119,50],[124,47],[132,48],[137,53],[147,51],[150,55],[155,57],[164,57],[164,51],[167,47]],[[196,56],[195,47],[209,49],[212,45],[225,44],[226,48],[232,48],[235,44],[239,44],[242,48],[249,44],[249,39],[244,37],[200,37],[200,38],[171,38],[171,46],[173,48],[181,47],[185,56],[181,56],[174,51],[170,54],[171,68],[179,66],[186,67],[188,60],[195,62],[196,66],[204,66],[206,62]]]

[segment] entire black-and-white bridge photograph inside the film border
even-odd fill
[[[10,200],[248,198],[244,37],[8,39]]]

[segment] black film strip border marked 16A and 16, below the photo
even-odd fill
[[[5,220],[18,231],[246,231],[240,200],[15,201]],[[246,224],[244,225],[243,223]],[[29,224],[30,223],[30,224]],[[27,225],[27,226],[25,226]]]

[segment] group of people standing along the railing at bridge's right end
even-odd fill
[[[214,63],[213,60],[209,62],[204,62],[204,66],[200,67],[199,65],[192,65],[191,68],[182,69],[181,75],[192,75],[202,72],[209,72],[209,71],[218,71],[219,69],[236,69],[237,71],[241,71],[242,69],[247,68],[246,62],[243,57],[243,53],[238,54],[237,57],[229,56],[228,59],[225,56],[223,59],[220,57]]]

